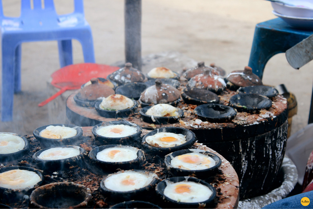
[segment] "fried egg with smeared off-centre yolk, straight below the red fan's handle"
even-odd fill
[[[76,136],[77,131],[75,128],[65,126],[48,126],[40,131],[39,136],[44,138],[70,138]]]

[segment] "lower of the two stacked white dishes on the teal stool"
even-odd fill
[[[282,20],[284,20],[287,24],[289,24],[292,27],[299,29],[311,29],[311,30],[313,29],[313,18],[300,18],[287,16],[277,13],[275,10],[273,10],[273,14],[275,14],[277,17],[280,17]]]

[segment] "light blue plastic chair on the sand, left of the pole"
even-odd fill
[[[0,0],[2,35],[1,119],[12,121],[13,94],[21,91],[21,44],[31,41],[57,40],[60,66],[73,64],[72,39],[80,41],[85,62],[95,63],[90,25],[85,20],[83,0],[74,0],[74,12],[58,15],[53,0],[21,1],[18,18],[3,15]]]

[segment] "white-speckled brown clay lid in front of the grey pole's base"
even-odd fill
[[[125,67],[120,68],[109,75],[110,80],[115,81],[119,85],[131,82],[145,82],[147,80],[146,76],[132,66],[131,63],[127,62]]]

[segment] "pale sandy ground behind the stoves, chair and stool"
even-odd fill
[[[84,5],[96,62],[123,62],[124,1],[86,0]],[[6,15],[19,15],[18,0],[3,0],[3,7]],[[72,1],[56,0],[56,8],[58,13],[71,12]],[[243,70],[248,65],[255,25],[276,18],[272,10],[265,0],[143,0],[142,56],[174,51],[197,62],[214,62],[227,73]],[[73,47],[74,64],[82,63],[80,43],[73,41]],[[264,84],[285,84],[297,98],[298,114],[293,117],[292,133],[307,125],[311,67],[308,63],[294,70],[285,54],[275,55],[265,67]],[[49,124],[48,107],[37,105],[48,98],[47,82],[58,69],[56,41],[22,44],[22,92],[14,96],[13,121],[0,122],[1,132],[32,134],[35,128]]]

